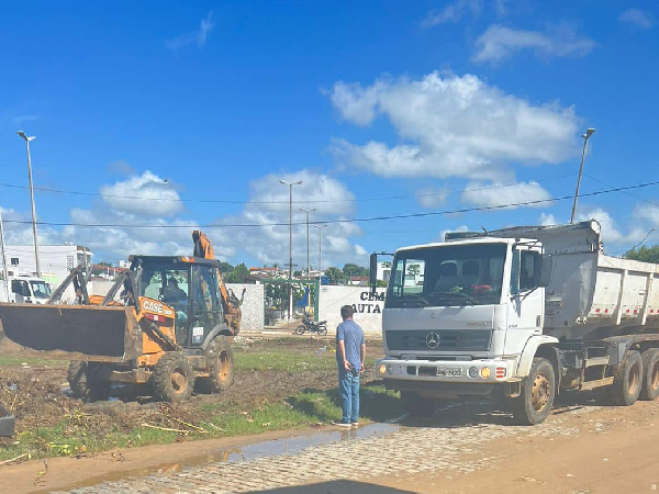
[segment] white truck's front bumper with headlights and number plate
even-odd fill
[[[387,380],[494,384],[511,380],[515,366],[513,359],[456,361],[387,357],[376,362],[376,374]]]

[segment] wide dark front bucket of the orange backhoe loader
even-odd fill
[[[63,359],[124,361],[142,355],[132,307],[0,304],[0,321],[12,341]]]

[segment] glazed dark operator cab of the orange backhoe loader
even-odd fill
[[[133,256],[139,272],[138,295],[159,300],[176,312],[176,343],[199,347],[224,321],[220,300],[219,261],[199,257]]]

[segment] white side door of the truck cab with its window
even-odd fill
[[[539,287],[539,247],[515,247],[511,267],[505,351],[521,351],[534,334],[543,333],[545,289]]]

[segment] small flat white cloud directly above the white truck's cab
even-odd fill
[[[472,182],[462,192],[462,202],[474,204],[479,207],[495,207],[502,204],[516,204],[532,201],[548,201],[549,192],[535,181],[520,182],[514,186],[503,183]],[[546,207],[550,202],[528,204],[526,207]],[[516,209],[511,206],[509,209]]]

